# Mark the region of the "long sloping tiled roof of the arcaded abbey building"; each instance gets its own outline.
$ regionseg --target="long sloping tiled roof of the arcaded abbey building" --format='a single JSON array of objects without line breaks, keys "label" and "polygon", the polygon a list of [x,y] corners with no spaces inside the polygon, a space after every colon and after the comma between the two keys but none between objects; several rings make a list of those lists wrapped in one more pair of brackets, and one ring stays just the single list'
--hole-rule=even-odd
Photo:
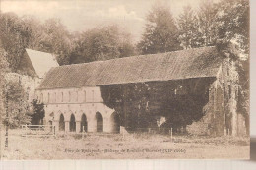
[{"label": "long sloping tiled roof of the arcaded abbey building", "polygon": [[216,47],[202,47],[67,65],[52,68],[38,89],[216,77],[221,62]]}]

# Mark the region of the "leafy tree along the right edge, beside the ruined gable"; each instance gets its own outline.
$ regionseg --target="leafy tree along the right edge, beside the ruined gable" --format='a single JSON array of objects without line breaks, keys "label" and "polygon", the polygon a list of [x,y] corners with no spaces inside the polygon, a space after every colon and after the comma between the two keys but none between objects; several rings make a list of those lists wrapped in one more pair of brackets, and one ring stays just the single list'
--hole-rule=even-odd
[{"label": "leafy tree along the right edge, beside the ruined gable", "polygon": [[217,28],[219,38],[236,45],[239,73],[239,93],[237,109],[245,118],[246,132],[249,134],[249,0],[222,0],[218,9]]}]

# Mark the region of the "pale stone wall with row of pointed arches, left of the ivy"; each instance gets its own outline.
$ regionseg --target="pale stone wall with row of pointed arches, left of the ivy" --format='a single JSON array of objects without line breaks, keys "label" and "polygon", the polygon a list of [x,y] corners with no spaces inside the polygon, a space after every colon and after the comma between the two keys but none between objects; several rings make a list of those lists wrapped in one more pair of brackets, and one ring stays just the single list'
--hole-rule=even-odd
[{"label": "pale stone wall with row of pointed arches, left of the ivy", "polygon": [[118,123],[114,122],[113,116],[118,115],[103,104],[100,87],[36,90],[36,96],[45,104],[45,123],[55,125],[56,131],[60,130],[61,115],[64,117],[65,132],[71,131],[72,117],[75,118],[74,125],[77,133],[81,131],[83,117],[87,120],[87,132],[97,132],[98,115],[102,117],[103,132],[116,130],[114,126]]}]

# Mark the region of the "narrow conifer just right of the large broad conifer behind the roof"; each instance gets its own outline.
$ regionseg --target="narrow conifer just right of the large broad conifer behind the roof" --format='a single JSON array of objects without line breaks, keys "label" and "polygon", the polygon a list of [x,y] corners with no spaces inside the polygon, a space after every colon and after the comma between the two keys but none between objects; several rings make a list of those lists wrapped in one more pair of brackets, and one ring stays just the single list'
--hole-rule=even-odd
[{"label": "narrow conifer just right of the large broad conifer behind the roof", "polygon": [[191,6],[185,6],[183,12],[177,19],[179,40],[184,49],[195,48],[200,46],[198,41],[199,29],[198,18]]}]

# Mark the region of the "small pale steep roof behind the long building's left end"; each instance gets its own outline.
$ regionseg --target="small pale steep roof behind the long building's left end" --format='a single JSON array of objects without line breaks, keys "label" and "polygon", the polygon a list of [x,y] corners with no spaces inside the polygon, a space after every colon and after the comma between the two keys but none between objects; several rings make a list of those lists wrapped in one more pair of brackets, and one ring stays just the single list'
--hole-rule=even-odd
[{"label": "small pale steep roof behind the long building's left end", "polygon": [[32,62],[33,69],[39,78],[43,78],[43,76],[52,67],[59,66],[55,57],[50,53],[35,51],[32,49],[26,49],[26,52],[28,53],[28,56]]}]

